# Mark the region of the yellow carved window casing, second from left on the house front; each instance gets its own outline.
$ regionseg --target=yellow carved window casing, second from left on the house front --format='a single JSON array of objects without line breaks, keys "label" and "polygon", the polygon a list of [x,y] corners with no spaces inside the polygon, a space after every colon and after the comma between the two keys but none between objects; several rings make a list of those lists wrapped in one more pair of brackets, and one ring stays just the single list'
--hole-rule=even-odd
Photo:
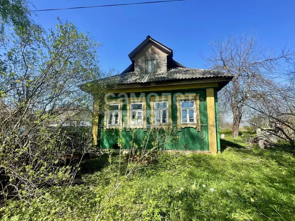
[{"label": "yellow carved window casing, second from left on the house front", "polygon": [[147,130],[146,106],[146,97],[127,98],[127,131],[130,128]]}]

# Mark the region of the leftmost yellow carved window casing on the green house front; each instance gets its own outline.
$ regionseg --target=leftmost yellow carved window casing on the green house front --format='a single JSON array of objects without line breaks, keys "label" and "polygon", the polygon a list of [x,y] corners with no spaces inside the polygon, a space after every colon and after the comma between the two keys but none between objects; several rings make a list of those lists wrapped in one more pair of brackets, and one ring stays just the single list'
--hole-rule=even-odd
[{"label": "leftmost yellow carved window casing on the green house front", "polygon": [[104,129],[119,129],[122,131],[122,99],[108,100],[104,112]]}]

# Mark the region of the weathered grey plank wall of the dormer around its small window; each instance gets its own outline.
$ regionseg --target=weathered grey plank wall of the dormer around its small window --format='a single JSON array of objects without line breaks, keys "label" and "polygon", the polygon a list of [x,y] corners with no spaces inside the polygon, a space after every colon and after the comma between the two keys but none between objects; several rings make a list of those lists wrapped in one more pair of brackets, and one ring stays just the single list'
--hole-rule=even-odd
[{"label": "weathered grey plank wall of the dormer around its small window", "polygon": [[[167,71],[167,54],[152,43],[147,44],[135,57],[134,57],[134,72],[145,73],[145,61],[156,59],[156,72]],[[144,77],[144,76],[143,76]]]}]

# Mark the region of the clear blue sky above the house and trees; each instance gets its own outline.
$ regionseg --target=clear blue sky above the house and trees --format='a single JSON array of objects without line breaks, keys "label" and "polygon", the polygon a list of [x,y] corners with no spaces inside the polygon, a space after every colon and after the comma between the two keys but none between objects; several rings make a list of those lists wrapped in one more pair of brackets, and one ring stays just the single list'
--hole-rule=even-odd
[{"label": "clear blue sky above the house and trees", "polygon": [[[31,0],[36,9],[143,2],[143,0]],[[33,9],[33,7],[31,7]],[[55,27],[56,18],[73,22],[81,32],[90,32],[98,48],[99,65],[123,71],[128,54],[150,35],[173,49],[174,60],[186,67],[206,68],[198,55],[209,55],[208,42],[216,35],[257,32],[258,41],[279,51],[295,45],[294,1],[198,1],[113,6],[37,12],[43,28]]]}]

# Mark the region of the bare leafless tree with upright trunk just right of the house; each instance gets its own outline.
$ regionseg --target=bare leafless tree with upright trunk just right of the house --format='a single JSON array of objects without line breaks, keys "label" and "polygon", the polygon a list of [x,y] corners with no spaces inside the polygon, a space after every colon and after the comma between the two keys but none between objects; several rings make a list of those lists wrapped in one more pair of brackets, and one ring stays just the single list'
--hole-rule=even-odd
[{"label": "bare leafless tree with upright trunk just right of the house", "polygon": [[234,75],[220,93],[220,99],[230,104],[233,136],[237,137],[245,105],[257,93],[269,88],[272,77],[284,71],[284,61],[294,59],[294,52],[283,48],[278,55],[267,53],[257,43],[257,36],[246,33],[230,34],[228,39],[217,37],[210,42],[211,57],[202,57],[215,70]]}]

